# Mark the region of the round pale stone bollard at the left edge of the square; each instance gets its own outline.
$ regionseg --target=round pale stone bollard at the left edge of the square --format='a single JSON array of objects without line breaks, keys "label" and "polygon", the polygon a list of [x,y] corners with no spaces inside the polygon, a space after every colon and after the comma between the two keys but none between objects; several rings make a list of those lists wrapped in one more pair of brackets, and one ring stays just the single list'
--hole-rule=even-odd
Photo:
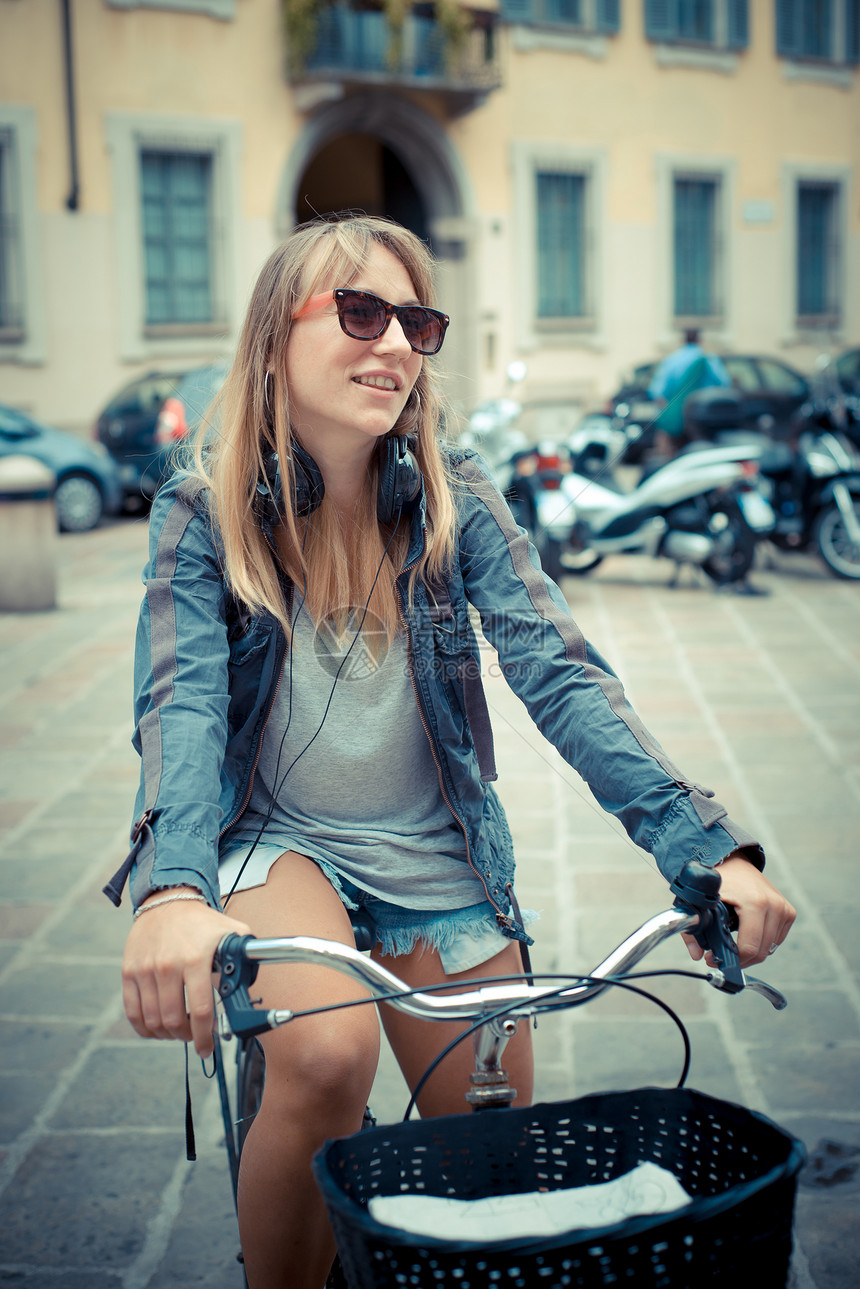
[{"label": "round pale stone bollard at the left edge of the square", "polygon": [[0,612],[57,605],[55,482],[35,456],[0,458]]}]

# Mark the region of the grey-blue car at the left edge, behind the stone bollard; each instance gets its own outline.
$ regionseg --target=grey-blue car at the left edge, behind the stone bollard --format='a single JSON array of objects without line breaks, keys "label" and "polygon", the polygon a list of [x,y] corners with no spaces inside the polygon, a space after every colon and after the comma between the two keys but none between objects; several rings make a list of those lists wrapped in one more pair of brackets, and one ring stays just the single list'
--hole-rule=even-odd
[{"label": "grey-blue car at the left edge, behind the stone bollard", "polygon": [[86,532],[122,504],[122,485],[111,458],[75,434],[43,425],[0,405],[0,456],[35,456],[57,476],[54,504],[62,532]]}]

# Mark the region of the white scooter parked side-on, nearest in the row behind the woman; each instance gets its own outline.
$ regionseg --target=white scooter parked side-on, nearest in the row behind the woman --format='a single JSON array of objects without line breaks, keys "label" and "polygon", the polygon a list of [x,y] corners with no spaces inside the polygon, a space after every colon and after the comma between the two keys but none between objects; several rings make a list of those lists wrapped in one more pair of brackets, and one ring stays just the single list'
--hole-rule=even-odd
[{"label": "white scooter parked side-on, nearest in the row behind the woman", "polygon": [[678,568],[698,566],[717,585],[743,581],[774,513],[757,489],[756,451],[738,455],[709,449],[678,456],[629,492],[612,486],[609,472],[562,476],[558,491],[543,491],[538,501],[544,570],[557,581],[565,572],[589,572],[609,554],[641,552]]}]

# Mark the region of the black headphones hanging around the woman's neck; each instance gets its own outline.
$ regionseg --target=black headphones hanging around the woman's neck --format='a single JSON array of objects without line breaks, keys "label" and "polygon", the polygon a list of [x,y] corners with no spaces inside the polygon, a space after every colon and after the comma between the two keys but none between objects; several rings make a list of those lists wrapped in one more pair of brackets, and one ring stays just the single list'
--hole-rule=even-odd
[{"label": "black headphones hanging around the woman's neck", "polygon": [[[290,440],[295,492],[293,513],[298,518],[312,514],[325,495],[325,483],[320,467],[311,454]],[[284,517],[284,486],[277,452],[267,452],[263,458],[264,476],[257,481],[254,509],[264,525],[280,523]],[[376,518],[380,523],[396,523],[405,512],[411,510],[422,489],[422,472],[413,456],[409,438],[393,434],[383,438],[379,445],[379,480],[376,485]]]}]

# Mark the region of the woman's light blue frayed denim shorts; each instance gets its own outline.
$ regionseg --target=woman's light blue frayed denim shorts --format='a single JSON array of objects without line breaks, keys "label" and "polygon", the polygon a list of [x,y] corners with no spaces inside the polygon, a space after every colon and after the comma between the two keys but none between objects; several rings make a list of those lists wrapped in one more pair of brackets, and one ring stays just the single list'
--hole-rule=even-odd
[{"label": "woman's light blue frayed denim shorts", "polygon": [[[232,891],[233,882],[236,882],[249,851],[250,844],[240,842],[231,846],[220,856],[218,875],[222,898]],[[268,870],[281,855],[284,855],[282,846],[273,842],[259,842],[254,847],[254,853],[242,871],[236,889],[248,891],[251,887],[263,886]],[[325,873],[344,906],[351,911],[361,909],[370,919],[376,942],[382,953],[388,956],[409,954],[416,945],[424,945],[437,951],[445,974],[454,976],[456,972],[468,971],[471,967],[478,967],[487,962],[512,942],[499,929],[495,909],[486,900],[467,909],[404,909],[362,891],[348,878],[342,877],[325,860],[313,858],[313,862]],[[536,916],[531,911],[523,910],[523,914],[529,922]]]}]

